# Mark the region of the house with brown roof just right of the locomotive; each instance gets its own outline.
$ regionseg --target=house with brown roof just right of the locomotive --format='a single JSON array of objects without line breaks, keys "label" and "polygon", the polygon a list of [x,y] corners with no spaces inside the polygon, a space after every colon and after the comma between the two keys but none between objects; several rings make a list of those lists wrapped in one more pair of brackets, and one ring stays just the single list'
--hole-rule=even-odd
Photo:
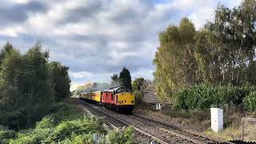
[{"label": "house with brown roof just right of the locomotive", "polygon": [[167,104],[166,102],[162,102],[158,95],[156,94],[154,85],[149,85],[143,90],[143,98],[142,102],[150,106],[154,106],[157,110],[161,110],[163,104]]}]

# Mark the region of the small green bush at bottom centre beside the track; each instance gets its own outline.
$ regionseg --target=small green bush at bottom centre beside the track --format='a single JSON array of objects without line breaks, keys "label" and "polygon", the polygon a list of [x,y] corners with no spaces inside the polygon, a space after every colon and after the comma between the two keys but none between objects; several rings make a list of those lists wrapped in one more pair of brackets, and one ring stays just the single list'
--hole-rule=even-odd
[{"label": "small green bush at bottom centre beside the track", "polygon": [[134,129],[129,126],[126,129],[115,129],[110,131],[109,134],[106,135],[106,141],[108,143],[116,143],[116,144],[129,144],[134,143]]}]

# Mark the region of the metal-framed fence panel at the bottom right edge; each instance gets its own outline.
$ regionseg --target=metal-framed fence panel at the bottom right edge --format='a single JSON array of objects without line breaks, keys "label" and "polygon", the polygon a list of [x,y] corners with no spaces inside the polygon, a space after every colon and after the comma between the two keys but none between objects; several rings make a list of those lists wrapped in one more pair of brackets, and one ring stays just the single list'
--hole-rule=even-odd
[{"label": "metal-framed fence panel at the bottom right edge", "polygon": [[242,118],[242,140],[256,142],[256,118]]}]

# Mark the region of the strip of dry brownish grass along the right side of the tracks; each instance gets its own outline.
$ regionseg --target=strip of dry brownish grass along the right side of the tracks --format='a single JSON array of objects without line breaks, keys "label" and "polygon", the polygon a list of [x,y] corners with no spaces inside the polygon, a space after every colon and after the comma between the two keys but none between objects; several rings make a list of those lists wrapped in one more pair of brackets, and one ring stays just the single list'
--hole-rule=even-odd
[{"label": "strip of dry brownish grass along the right side of the tracks", "polygon": [[[256,118],[256,112],[244,113],[242,108],[237,106],[226,106],[224,108],[224,130],[214,132],[210,130],[210,110],[204,112],[187,112],[183,110],[158,110],[148,106],[138,106],[134,113],[146,115],[162,122],[170,123],[186,129],[203,132],[206,135],[224,140],[242,139],[241,119],[243,117]],[[253,136],[254,137],[254,136]]]}]

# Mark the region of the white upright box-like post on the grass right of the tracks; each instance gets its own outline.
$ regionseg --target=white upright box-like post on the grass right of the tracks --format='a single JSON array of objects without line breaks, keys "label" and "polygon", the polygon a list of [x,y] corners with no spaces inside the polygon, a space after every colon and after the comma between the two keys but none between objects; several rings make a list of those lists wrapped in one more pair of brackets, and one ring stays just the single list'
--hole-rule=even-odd
[{"label": "white upright box-like post on the grass right of the tracks", "polygon": [[220,108],[210,108],[211,129],[219,131],[223,129],[223,110]]}]

